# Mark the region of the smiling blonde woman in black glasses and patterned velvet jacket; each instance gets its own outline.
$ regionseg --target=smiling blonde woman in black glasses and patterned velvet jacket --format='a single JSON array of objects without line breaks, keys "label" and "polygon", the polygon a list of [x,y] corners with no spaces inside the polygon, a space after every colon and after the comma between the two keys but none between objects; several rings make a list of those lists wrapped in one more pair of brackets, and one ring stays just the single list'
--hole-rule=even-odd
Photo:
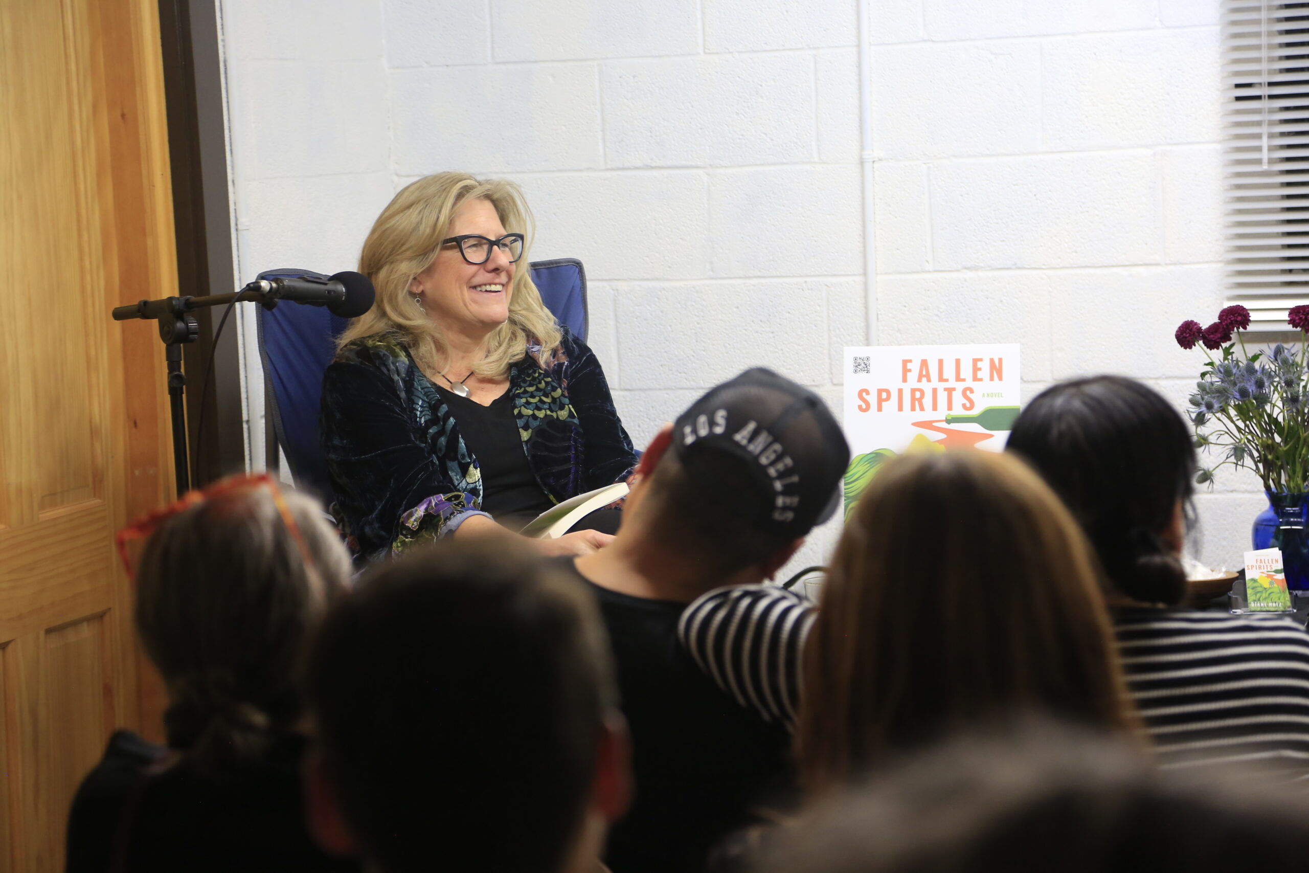
[{"label": "smiling blonde woman in black glasses and patterned velvet jacket", "polygon": [[[340,338],[321,421],[336,516],[364,559],[517,530],[631,475],[600,363],[531,284],[530,236],[517,185],[465,173],[408,185],[368,234],[359,268],[377,302]],[[589,526],[617,527],[614,513]],[[533,542],[583,554],[607,541],[575,526]]]}]

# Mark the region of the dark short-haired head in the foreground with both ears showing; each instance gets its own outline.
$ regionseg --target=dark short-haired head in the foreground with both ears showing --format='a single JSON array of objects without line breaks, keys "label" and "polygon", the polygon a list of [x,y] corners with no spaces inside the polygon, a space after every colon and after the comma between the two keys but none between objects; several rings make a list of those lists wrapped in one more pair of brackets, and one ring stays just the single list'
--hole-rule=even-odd
[{"label": "dark short-haired head in the foreground with both ears showing", "polygon": [[490,539],[377,567],[306,685],[325,847],[378,873],[598,869],[627,743],[596,605],[558,567]]}]

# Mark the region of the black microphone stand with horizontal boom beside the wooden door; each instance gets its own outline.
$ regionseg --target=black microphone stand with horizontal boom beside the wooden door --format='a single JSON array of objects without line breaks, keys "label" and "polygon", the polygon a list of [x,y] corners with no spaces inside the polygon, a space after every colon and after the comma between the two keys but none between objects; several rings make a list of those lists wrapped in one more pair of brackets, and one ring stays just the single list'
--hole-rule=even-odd
[{"label": "black microphone stand with horizontal boom beside the wooden door", "polygon": [[164,300],[141,300],[132,306],[115,306],[114,321],[131,318],[158,322],[160,339],[164,342],[164,359],[168,368],[169,411],[173,419],[173,475],[177,480],[177,493],[181,497],[191,490],[191,465],[186,441],[186,373],[182,372],[182,344],[194,343],[200,335],[200,325],[191,310],[202,306],[221,306],[233,301],[254,301],[264,309],[278,305],[275,293],[266,281],[251,281],[241,291],[206,297],[165,297]]}]

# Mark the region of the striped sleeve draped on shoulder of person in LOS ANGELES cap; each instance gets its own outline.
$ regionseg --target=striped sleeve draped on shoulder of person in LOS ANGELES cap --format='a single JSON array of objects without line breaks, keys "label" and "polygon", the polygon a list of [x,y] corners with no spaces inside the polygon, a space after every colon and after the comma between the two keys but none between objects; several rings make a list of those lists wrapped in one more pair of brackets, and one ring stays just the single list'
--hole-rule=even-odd
[{"label": "striped sleeve draped on shoulder of person in LOS ANGELES cap", "polygon": [[695,662],[737,703],[795,728],[801,657],[817,611],[775,585],[719,588],[686,607],[678,633]]}]

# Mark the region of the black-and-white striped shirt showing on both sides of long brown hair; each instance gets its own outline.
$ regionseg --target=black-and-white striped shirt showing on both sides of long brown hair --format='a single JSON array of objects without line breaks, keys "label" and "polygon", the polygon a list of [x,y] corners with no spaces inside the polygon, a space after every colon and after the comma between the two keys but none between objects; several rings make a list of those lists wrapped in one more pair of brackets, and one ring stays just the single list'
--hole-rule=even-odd
[{"label": "black-and-white striped shirt showing on both sides of long brown hair", "polygon": [[[817,609],[771,585],[720,588],[682,614],[683,645],[721,688],[795,726]],[[1309,633],[1287,618],[1113,614],[1127,685],[1160,763],[1262,760],[1309,776]]]}]

